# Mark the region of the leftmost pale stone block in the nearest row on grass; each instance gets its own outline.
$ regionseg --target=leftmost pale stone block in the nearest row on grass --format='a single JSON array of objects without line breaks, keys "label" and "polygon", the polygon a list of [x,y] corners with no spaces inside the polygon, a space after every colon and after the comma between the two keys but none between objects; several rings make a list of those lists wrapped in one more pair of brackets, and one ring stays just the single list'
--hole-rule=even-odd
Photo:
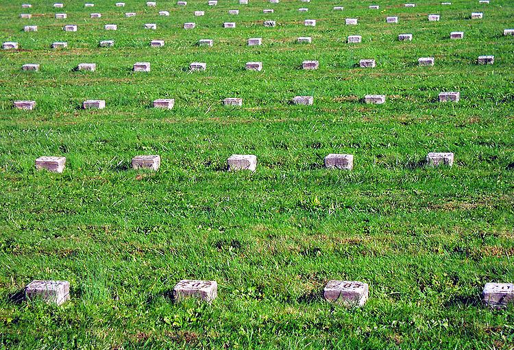
[{"label": "leftmost pale stone block in the nearest row on grass", "polygon": [[68,281],[32,281],[25,288],[25,298],[59,306],[70,299],[70,284]]}]

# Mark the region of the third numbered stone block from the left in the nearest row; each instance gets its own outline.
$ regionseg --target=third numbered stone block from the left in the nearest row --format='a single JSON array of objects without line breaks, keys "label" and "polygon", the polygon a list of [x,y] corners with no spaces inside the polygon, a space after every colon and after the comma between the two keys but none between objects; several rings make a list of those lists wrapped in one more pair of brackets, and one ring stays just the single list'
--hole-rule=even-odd
[{"label": "third numbered stone block from the left in the nearest row", "polygon": [[339,301],[351,308],[363,306],[368,294],[368,284],[358,281],[329,281],[323,289],[327,301]]}]

